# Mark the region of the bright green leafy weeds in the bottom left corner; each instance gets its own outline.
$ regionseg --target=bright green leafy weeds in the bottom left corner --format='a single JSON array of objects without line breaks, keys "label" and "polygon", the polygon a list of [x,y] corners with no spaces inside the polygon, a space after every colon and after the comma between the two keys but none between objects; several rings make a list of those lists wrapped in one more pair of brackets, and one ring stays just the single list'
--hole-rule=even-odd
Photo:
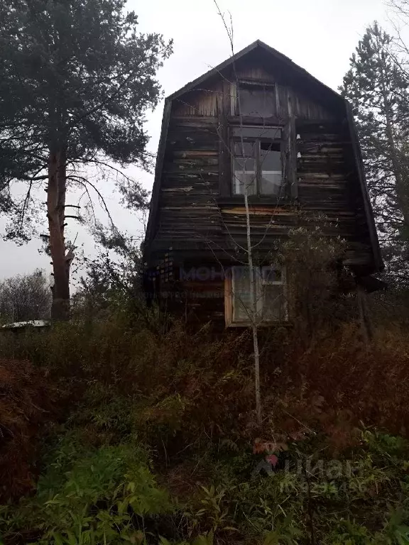
[{"label": "bright green leafy weeds in the bottom left corner", "polygon": [[145,527],[171,510],[137,446],[87,448],[68,434],[45,464],[35,497],[3,513],[8,532],[29,524],[39,545],[142,543]]}]

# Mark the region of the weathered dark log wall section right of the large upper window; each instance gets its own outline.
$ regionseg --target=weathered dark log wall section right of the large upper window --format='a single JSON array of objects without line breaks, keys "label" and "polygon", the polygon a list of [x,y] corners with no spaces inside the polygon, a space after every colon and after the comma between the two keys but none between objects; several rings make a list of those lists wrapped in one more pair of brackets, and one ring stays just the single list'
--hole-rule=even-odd
[{"label": "weathered dark log wall section right of the large upper window", "polygon": [[358,172],[346,121],[296,123],[298,199],[306,214],[325,214],[332,233],[348,241],[346,263],[373,260]]}]

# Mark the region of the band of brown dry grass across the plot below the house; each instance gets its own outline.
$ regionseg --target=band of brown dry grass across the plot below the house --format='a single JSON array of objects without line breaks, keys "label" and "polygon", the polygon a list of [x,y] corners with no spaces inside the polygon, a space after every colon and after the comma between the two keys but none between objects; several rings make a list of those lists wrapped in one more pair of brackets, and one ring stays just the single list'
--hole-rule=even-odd
[{"label": "band of brown dry grass across the plot below the house", "polygon": [[360,422],[409,436],[404,331],[377,331],[370,349],[355,324],[323,331],[308,348],[288,329],[261,337],[263,430],[247,331],[215,339],[208,326],[187,334],[175,324],[153,334],[114,316],[3,341],[0,355],[14,359],[0,363],[1,482],[13,493],[30,487],[38,426],[54,418],[45,375],[88,439],[136,430],[172,466],[219,441],[288,441],[312,431],[342,450]]}]

